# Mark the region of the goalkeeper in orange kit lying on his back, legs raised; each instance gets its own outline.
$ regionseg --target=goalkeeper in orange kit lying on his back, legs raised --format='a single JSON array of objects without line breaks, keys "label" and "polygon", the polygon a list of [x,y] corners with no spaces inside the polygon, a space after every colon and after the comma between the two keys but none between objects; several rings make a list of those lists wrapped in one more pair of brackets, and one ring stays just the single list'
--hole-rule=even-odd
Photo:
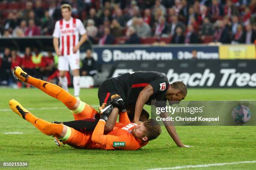
[{"label": "goalkeeper in orange kit lying on his back, legs raised", "polygon": [[[74,119],[83,120],[86,124],[90,122],[97,122],[95,129],[91,132],[86,130],[76,130],[67,125],[50,123],[34,116],[31,112],[26,110],[16,100],[10,100],[10,108],[20,115],[23,119],[31,122],[38,130],[46,135],[54,135],[57,141],[68,144],[74,148],[83,149],[104,149],[104,150],[137,150],[148,143],[149,140],[157,138],[161,133],[160,125],[152,119],[146,120],[141,125],[131,123],[128,119],[127,113],[119,113],[119,122],[115,123],[112,130],[104,133],[105,126],[115,122],[118,115],[110,113],[113,109],[120,107],[122,99],[118,95],[113,95],[111,102],[103,104],[98,113],[94,108],[81,100],[77,100],[74,96],[63,90],[61,87],[51,84],[46,81],[36,79],[29,76],[20,67],[14,70],[15,76],[23,82],[27,82],[46,94],[55,97],[68,107],[74,115]],[[84,127],[87,127],[85,125]]]}]

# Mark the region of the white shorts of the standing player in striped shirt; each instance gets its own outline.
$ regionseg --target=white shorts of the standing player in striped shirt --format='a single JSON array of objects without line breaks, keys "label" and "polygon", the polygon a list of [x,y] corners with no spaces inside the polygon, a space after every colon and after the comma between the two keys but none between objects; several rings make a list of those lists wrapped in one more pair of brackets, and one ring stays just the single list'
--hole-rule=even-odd
[{"label": "white shorts of the standing player in striped shirt", "polygon": [[80,53],[77,52],[72,55],[59,56],[58,70],[69,71],[69,66],[71,70],[76,70],[80,68]]}]

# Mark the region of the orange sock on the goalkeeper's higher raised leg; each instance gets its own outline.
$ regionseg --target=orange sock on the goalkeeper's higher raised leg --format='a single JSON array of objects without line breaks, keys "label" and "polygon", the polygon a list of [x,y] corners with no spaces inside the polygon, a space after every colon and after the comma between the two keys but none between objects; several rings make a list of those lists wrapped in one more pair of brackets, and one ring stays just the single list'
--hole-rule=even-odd
[{"label": "orange sock on the goalkeeper's higher raised leg", "polygon": [[77,102],[76,97],[72,96],[67,91],[62,89],[61,87],[54,85],[50,82],[46,82],[46,81],[39,80],[37,78],[29,76],[27,83],[42,90],[43,92],[50,95],[51,97],[54,97],[54,98],[60,100],[69,109],[72,109],[72,107],[74,107],[74,105]]}]

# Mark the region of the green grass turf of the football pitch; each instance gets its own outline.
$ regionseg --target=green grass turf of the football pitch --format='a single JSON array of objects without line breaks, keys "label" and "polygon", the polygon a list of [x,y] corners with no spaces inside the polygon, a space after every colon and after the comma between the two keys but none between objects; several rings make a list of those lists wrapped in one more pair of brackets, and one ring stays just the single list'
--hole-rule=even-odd
[{"label": "green grass turf of the football pitch", "polygon": [[[72,89],[70,89],[73,93]],[[79,150],[58,148],[51,136],[8,109],[15,99],[44,120],[73,120],[58,100],[38,89],[0,89],[0,161],[28,161],[28,169],[148,169],[256,160],[256,132],[253,126],[176,127],[182,142],[194,148],[178,148],[166,129],[154,141],[136,151]],[[81,100],[98,105],[97,89],[82,89]],[[189,89],[186,100],[256,100],[255,89]],[[61,107],[51,110],[51,107]],[[149,111],[150,107],[146,107]],[[4,134],[23,132],[23,134]],[[197,169],[256,169],[256,163]],[[17,170],[17,168],[14,168]],[[193,168],[196,169],[196,168]]]}]

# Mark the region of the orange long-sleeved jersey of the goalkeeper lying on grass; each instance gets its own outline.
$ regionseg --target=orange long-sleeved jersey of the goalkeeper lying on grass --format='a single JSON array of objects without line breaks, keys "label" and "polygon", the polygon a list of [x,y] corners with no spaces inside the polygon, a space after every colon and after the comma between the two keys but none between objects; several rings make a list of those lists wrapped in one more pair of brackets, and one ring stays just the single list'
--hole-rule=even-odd
[{"label": "orange long-sleeved jersey of the goalkeeper lying on grass", "polygon": [[104,135],[105,121],[100,120],[92,133],[92,141],[86,148],[100,148],[104,150],[137,150],[145,146],[148,142],[143,143],[133,136],[132,129],[135,128],[136,125],[136,123],[130,122],[126,112],[120,113],[119,122],[115,124],[113,130]]}]

